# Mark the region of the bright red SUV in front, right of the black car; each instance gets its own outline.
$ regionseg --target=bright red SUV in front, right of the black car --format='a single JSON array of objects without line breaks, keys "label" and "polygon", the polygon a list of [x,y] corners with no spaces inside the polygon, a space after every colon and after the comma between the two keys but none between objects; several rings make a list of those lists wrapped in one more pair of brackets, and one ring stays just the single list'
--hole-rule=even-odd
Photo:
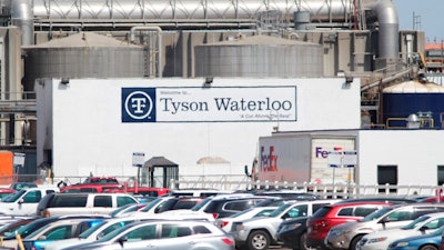
[{"label": "bright red SUV in front, right of the black car", "polygon": [[344,202],[324,206],[306,221],[306,246],[309,248],[325,249],[324,239],[332,227],[349,221],[357,221],[376,210],[390,206],[392,204],[383,201]]}]

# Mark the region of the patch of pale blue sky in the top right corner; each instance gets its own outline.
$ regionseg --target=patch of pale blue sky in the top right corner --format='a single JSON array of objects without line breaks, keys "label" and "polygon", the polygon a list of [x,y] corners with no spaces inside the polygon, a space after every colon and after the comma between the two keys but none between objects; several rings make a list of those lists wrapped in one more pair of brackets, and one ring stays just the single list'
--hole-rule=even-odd
[{"label": "patch of pale blue sky in the top right corner", "polygon": [[444,0],[392,0],[400,18],[400,30],[416,29],[425,32],[428,42],[444,40]]}]

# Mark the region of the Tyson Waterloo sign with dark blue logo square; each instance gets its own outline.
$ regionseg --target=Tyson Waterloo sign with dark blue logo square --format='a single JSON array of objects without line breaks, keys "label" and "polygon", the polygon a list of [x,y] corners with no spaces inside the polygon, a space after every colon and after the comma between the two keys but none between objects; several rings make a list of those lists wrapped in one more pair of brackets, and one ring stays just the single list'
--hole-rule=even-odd
[{"label": "Tyson Waterloo sign with dark blue logo square", "polygon": [[296,121],[296,87],[122,88],[122,122]]}]

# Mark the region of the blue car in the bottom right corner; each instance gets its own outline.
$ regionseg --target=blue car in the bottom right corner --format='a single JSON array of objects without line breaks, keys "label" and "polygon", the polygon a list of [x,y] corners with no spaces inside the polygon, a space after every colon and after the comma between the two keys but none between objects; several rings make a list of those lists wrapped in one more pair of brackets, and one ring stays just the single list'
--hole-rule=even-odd
[{"label": "blue car in the bottom right corner", "polygon": [[443,231],[444,227],[441,227],[427,234],[395,240],[387,250],[438,250]]}]

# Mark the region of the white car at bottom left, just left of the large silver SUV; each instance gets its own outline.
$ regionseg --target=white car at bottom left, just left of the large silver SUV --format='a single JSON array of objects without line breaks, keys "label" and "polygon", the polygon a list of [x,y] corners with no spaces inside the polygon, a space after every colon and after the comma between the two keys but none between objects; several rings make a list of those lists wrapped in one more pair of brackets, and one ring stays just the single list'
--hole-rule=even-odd
[{"label": "white car at bottom left, just left of the large silver SUV", "polygon": [[134,218],[112,218],[101,221],[100,223],[89,228],[82,232],[78,238],[71,238],[65,240],[60,240],[54,243],[49,243],[44,246],[44,250],[60,250],[67,247],[93,242],[107,236],[108,233],[123,228],[127,224],[139,222],[140,220],[134,220]]}]

